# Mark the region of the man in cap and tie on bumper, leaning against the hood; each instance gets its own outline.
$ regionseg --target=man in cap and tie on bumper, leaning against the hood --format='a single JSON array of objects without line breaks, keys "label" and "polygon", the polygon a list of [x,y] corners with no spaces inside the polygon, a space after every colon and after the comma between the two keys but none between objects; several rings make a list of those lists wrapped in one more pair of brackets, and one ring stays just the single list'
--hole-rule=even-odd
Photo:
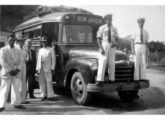
[{"label": "man in cap and tie on bumper, leaning against the hood", "polygon": [[97,41],[101,52],[97,72],[97,86],[103,85],[107,63],[109,80],[115,80],[115,46],[118,41],[118,32],[112,25],[111,14],[105,15],[104,20],[106,24],[100,26],[97,32]]}]

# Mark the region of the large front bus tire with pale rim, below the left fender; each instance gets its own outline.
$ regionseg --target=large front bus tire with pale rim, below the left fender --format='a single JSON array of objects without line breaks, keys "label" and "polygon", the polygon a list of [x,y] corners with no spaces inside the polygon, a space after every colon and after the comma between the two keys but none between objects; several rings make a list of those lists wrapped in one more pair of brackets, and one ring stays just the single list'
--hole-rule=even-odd
[{"label": "large front bus tire with pale rim, below the left fender", "polygon": [[70,90],[73,100],[79,105],[87,105],[92,94],[87,91],[87,83],[80,72],[75,72],[71,79]]}]

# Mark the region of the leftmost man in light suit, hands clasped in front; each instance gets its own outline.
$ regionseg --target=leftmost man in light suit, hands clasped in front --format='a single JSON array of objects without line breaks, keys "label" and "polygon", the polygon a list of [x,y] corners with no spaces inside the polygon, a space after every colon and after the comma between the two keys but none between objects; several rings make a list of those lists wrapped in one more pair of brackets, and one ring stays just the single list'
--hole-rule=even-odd
[{"label": "leftmost man in light suit, hands clasped in front", "polygon": [[0,85],[0,112],[5,109],[6,100],[11,87],[11,104],[14,108],[25,109],[20,105],[20,70],[21,55],[17,48],[14,47],[14,35],[8,36],[8,45],[1,49],[1,85]]}]

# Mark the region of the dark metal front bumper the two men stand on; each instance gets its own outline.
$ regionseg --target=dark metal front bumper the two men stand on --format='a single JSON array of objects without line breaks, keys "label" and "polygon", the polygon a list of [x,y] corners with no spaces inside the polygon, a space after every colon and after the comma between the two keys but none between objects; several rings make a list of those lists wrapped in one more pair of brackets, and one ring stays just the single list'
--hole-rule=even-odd
[{"label": "dark metal front bumper the two men stand on", "polygon": [[104,84],[103,87],[98,87],[95,84],[88,84],[88,92],[115,92],[115,91],[130,91],[148,88],[150,86],[149,80],[138,80],[132,82],[111,82]]}]

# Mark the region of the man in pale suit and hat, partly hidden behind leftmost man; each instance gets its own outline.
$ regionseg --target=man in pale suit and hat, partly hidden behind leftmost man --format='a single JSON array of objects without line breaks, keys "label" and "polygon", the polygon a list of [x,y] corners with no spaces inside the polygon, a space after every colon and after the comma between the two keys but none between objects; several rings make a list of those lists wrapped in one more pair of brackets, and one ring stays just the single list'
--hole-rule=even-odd
[{"label": "man in pale suit and hat, partly hidden behind leftmost man", "polygon": [[24,40],[22,38],[17,38],[17,44],[16,46],[20,50],[21,54],[21,63],[22,63],[22,68],[20,71],[20,94],[21,94],[21,103],[22,104],[27,104],[29,103],[26,101],[26,92],[27,92],[27,85],[26,85],[26,64],[25,62],[29,59],[28,53],[24,49]]}]

